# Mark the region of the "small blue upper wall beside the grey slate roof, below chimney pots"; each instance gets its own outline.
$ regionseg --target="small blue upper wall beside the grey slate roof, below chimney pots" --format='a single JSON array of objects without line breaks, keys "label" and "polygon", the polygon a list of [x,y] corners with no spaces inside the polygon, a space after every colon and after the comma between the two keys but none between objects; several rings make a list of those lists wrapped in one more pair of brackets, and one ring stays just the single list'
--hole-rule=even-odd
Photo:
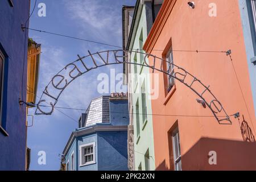
[{"label": "small blue upper wall beside the grey slate roof, below chimney pots", "polygon": [[109,111],[110,123],[112,125],[129,125],[129,109],[127,100],[110,100]]}]

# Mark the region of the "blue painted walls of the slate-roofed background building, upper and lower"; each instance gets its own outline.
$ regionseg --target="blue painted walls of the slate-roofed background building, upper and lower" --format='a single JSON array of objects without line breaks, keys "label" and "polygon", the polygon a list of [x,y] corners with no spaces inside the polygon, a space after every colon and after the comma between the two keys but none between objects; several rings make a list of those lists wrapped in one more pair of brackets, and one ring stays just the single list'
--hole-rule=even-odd
[{"label": "blue painted walls of the slate-roofed background building, upper and lower", "polygon": [[[65,155],[65,163],[69,161],[71,170],[71,155],[74,151],[76,171],[127,171],[127,131],[111,131],[114,126],[129,125],[129,110],[127,100],[110,100],[110,123],[97,123],[94,126],[108,126],[110,131],[97,131],[75,137],[71,147]],[[76,129],[75,133],[91,130],[94,126]],[[115,127],[116,129],[116,127]],[[80,167],[79,148],[83,144],[95,143],[96,163]]]}]

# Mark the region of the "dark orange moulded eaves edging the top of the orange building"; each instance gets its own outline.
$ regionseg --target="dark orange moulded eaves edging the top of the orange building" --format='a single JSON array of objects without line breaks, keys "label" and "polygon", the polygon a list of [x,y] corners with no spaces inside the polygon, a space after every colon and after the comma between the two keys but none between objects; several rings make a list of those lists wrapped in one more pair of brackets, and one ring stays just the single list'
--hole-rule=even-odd
[{"label": "dark orange moulded eaves edging the top of the orange building", "polygon": [[146,42],[144,43],[143,49],[147,53],[151,53],[152,49],[155,46],[156,40],[158,39],[160,33],[163,30],[164,24],[169,18],[172,10],[174,9],[174,5],[177,0],[168,0],[164,1],[162,7],[158,15],[156,16],[155,22],[150,30],[150,33],[147,36]]}]

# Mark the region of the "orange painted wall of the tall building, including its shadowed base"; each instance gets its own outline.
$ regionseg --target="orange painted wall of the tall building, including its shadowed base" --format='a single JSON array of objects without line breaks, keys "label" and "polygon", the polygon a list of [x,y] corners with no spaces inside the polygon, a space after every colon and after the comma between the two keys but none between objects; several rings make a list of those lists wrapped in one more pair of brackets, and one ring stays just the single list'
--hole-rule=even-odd
[{"label": "orange painted wall of the tall building, including its shadowed base", "polygon": [[[195,0],[196,7],[188,7],[186,0],[165,0],[144,49],[162,57],[172,39],[174,50],[227,51],[232,50],[246,109],[232,62],[225,53],[174,52],[174,63],[195,75],[220,100],[228,114],[238,111],[244,115],[255,136],[255,115],[247,70],[245,44],[238,1],[215,0],[217,16],[210,17],[210,0]],[[172,5],[174,5],[172,7]],[[170,12],[170,14],[168,13]],[[152,60],[150,60],[152,64]],[[156,64],[160,64],[159,62]],[[152,100],[153,114],[213,115],[209,108],[196,102],[195,93],[176,80],[176,90],[164,105],[164,76],[160,74],[159,98]],[[151,80],[152,84],[152,80]],[[256,169],[256,147],[243,142],[240,124],[231,117],[232,125],[219,125],[214,117],[153,116],[155,164],[157,170],[174,169],[168,131],[177,122],[180,133],[183,170]],[[208,152],[217,152],[217,165],[209,165]]]}]

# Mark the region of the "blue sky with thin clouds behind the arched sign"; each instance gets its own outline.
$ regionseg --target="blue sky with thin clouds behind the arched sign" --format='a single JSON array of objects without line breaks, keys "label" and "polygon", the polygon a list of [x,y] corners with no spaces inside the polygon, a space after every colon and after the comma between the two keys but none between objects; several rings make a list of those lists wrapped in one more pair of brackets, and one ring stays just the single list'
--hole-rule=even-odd
[{"label": "blue sky with thin clouds behind the arched sign", "polygon": [[[31,1],[31,10],[35,0]],[[38,16],[38,4],[46,4],[46,17]],[[134,6],[135,0],[38,0],[30,19],[30,28],[77,36],[97,42],[122,47],[122,5]],[[65,65],[75,61],[77,54],[115,49],[82,42],[80,40],[48,35],[42,32],[29,32],[30,38],[42,44],[39,73],[38,96]],[[86,109],[90,101],[99,96],[97,75],[115,68],[122,73],[122,65],[102,67],[77,78],[61,94],[56,106]],[[110,90],[113,91],[113,90]],[[38,101],[38,100],[37,100]],[[81,111],[60,109],[76,121]],[[29,113],[34,114],[30,109]],[[31,148],[31,170],[59,170],[60,157],[72,131],[77,128],[73,119],[55,110],[52,115],[35,115],[34,125],[28,127],[27,145]],[[38,152],[46,152],[46,165],[38,164]]]}]

